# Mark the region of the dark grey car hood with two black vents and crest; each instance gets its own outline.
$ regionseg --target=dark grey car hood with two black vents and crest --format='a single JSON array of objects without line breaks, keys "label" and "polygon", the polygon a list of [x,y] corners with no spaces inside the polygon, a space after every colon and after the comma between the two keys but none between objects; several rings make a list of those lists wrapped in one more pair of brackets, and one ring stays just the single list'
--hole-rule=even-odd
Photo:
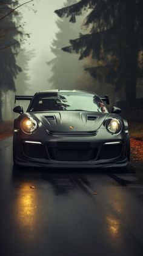
[{"label": "dark grey car hood with two black vents and crest", "polygon": [[56,111],[30,112],[51,133],[93,132],[99,129],[108,113]]}]

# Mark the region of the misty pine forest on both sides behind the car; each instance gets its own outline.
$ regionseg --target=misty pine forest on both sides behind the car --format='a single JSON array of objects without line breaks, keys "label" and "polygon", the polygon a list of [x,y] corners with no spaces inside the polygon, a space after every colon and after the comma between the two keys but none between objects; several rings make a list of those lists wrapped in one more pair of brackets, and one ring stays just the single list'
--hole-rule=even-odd
[{"label": "misty pine forest on both sides behind the car", "polygon": [[[29,2],[0,1],[0,122],[13,119],[8,109],[16,93],[38,88],[36,81],[30,83],[28,63],[34,54],[24,47],[30,35],[19,12]],[[44,69],[51,74],[44,74],[45,88],[108,94],[111,104],[123,109],[142,106],[143,2],[67,0],[63,6],[54,14],[58,30],[50,45],[53,58],[45,61]],[[44,33],[48,35],[48,27]]]}]

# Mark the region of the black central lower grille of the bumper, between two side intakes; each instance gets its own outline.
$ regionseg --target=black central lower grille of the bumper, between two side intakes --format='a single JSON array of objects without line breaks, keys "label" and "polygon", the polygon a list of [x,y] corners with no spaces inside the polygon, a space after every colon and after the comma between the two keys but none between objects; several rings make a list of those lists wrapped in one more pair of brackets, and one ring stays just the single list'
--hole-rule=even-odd
[{"label": "black central lower grille of the bumper, between two side intakes", "polygon": [[56,161],[87,162],[94,160],[98,153],[97,148],[48,148],[50,159]]}]

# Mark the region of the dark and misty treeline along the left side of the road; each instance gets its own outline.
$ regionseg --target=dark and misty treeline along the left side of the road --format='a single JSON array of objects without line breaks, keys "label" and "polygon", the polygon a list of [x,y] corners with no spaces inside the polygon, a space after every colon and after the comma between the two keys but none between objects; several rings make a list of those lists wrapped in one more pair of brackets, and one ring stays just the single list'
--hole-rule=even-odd
[{"label": "dark and misty treeline along the left side of the road", "polygon": [[[30,2],[30,1],[29,1]],[[0,123],[2,122],[2,106],[12,108],[12,97],[7,92],[16,91],[15,80],[22,72],[16,58],[19,53],[24,57],[24,49],[20,49],[24,40],[24,32],[21,25],[22,16],[18,8],[24,5],[19,1],[0,1]],[[25,61],[25,58],[24,58]],[[27,81],[22,84],[24,91]],[[19,83],[19,86],[20,83]],[[7,105],[7,102],[10,103]],[[11,109],[4,109],[4,113]],[[6,114],[5,114],[6,115]]]}]

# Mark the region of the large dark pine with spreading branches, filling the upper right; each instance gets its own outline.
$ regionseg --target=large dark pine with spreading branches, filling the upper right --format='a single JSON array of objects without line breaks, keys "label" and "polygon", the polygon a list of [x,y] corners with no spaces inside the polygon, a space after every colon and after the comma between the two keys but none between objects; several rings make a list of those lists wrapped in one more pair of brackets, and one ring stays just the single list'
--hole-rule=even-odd
[{"label": "large dark pine with spreading branches, filling the upper right", "polygon": [[136,80],[142,76],[139,54],[143,50],[142,0],[81,0],[55,12],[59,17],[76,21],[84,9],[91,9],[84,20],[89,33],[70,40],[65,52],[80,54],[80,60],[91,56],[97,65],[86,70],[116,89],[125,87],[128,105],[136,100]]}]

